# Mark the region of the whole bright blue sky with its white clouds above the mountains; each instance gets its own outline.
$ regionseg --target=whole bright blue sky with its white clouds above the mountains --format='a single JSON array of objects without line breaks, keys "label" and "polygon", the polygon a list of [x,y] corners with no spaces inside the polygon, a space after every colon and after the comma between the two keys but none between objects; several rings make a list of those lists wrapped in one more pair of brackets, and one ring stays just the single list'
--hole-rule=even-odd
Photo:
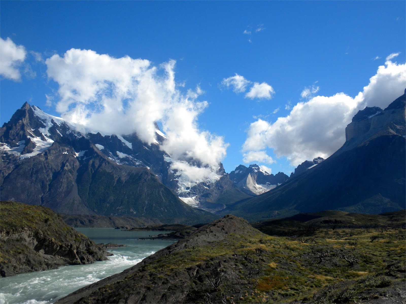
[{"label": "whole bright blue sky with its white clouds above the mountains", "polygon": [[[405,11],[404,1],[1,1],[1,124],[25,101],[106,132],[114,119],[136,122],[158,106],[145,125],[157,120],[179,159],[289,175],[337,150],[356,111],[403,93]],[[117,60],[125,56],[147,60],[139,82],[125,82],[135,73],[127,67],[141,64]],[[112,69],[106,75],[102,62]],[[85,92],[77,73],[80,83],[107,88]],[[138,83],[156,88],[159,102],[150,105],[148,92],[141,98]],[[106,98],[124,111],[99,126]],[[126,125],[148,139],[135,122]]]}]

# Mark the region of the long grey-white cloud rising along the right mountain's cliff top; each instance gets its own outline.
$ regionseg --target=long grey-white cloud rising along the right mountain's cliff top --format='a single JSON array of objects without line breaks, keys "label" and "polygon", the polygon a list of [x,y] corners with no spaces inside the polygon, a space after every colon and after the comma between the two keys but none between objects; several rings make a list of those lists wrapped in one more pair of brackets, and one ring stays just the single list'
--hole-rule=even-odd
[{"label": "long grey-white cloud rising along the right mountain's cliff top", "polygon": [[297,103],[288,116],[273,123],[258,119],[248,128],[242,146],[244,161],[246,155],[266,149],[277,157],[285,156],[293,166],[317,156],[327,158],[345,142],[345,128],[358,110],[387,107],[403,94],[405,85],[405,64],[387,61],[355,97],[342,92],[315,96]]}]

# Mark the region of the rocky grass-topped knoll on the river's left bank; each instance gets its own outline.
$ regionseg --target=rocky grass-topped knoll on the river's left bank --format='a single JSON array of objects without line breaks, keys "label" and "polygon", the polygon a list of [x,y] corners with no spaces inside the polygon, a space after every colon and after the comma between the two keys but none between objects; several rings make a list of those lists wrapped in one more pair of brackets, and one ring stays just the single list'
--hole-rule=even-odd
[{"label": "rocky grass-topped knoll on the river's left bank", "polygon": [[89,264],[108,253],[49,208],[1,202],[1,275]]}]

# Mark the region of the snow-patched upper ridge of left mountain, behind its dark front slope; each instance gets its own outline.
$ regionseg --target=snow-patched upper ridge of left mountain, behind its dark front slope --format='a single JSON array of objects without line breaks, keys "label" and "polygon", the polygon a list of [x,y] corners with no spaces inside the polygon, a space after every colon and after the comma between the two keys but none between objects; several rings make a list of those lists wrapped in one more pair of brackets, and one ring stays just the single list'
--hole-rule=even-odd
[{"label": "snow-patched upper ridge of left mountain, behind its dark front slope", "polygon": [[[221,163],[216,169],[207,168],[211,170],[205,180],[189,180],[181,172],[171,169],[171,156],[161,149],[166,136],[158,125],[155,124],[155,128],[156,139],[145,143],[136,133],[122,136],[103,134],[51,116],[38,107],[25,103],[1,129],[2,158],[9,160],[2,162],[1,183],[13,170],[13,163],[44,154],[55,143],[69,146],[78,161],[85,161],[94,154],[80,144],[88,141],[92,146],[91,150],[117,165],[148,169],[162,184],[192,207],[219,210],[225,208],[225,204],[217,203],[217,200],[224,201],[226,193],[233,194],[233,200],[228,201],[229,203],[247,197],[229,180]],[[63,153],[69,154],[68,150]],[[192,165],[199,166],[199,163],[194,161]]]}]

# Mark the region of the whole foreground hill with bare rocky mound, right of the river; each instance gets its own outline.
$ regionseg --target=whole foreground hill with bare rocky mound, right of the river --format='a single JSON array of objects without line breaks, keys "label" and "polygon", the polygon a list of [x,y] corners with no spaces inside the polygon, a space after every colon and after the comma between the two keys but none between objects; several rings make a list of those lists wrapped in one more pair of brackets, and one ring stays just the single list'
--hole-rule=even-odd
[{"label": "whole foreground hill with bare rocky mound, right of the river", "polygon": [[59,303],[404,303],[405,260],[402,227],[278,236],[225,216]]}]

